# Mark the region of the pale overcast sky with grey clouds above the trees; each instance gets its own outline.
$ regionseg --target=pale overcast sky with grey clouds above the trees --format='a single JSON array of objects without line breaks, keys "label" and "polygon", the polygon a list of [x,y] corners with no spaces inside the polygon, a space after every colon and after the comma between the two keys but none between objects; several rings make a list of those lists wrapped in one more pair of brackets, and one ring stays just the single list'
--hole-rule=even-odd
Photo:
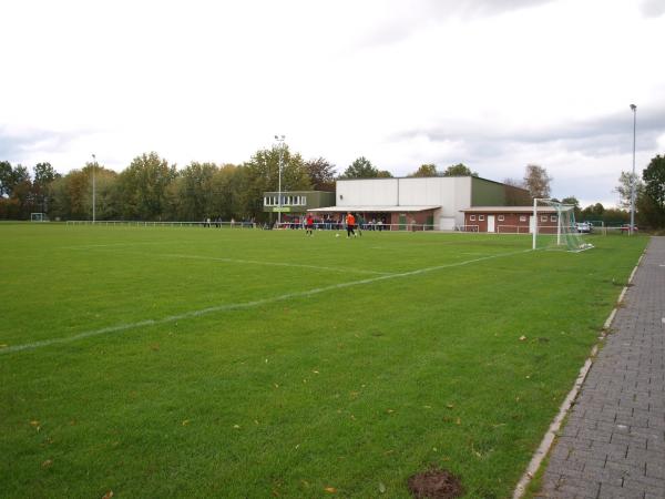
[{"label": "pale overcast sky with grey clouds above the trees", "polygon": [[[617,203],[665,153],[665,0],[3,0],[0,161],[463,163]],[[630,104],[636,104],[634,114]],[[634,118],[636,121],[634,122]]]}]

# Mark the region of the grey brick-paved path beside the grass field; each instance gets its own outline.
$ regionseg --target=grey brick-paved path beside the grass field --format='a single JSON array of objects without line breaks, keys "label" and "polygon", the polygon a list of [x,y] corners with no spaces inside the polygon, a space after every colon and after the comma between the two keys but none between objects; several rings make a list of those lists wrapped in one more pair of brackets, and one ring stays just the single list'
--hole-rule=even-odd
[{"label": "grey brick-paved path beside the grass field", "polygon": [[665,237],[652,237],[536,497],[665,498]]}]

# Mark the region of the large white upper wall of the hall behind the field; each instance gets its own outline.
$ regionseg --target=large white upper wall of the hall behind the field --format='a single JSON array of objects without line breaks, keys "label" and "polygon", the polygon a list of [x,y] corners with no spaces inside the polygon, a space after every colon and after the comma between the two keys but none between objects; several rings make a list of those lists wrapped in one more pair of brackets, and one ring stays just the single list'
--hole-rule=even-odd
[{"label": "large white upper wall of the hall behind the field", "polygon": [[471,206],[471,177],[367,179],[337,181],[338,206],[437,205],[438,228],[452,230],[464,223],[460,210]]}]

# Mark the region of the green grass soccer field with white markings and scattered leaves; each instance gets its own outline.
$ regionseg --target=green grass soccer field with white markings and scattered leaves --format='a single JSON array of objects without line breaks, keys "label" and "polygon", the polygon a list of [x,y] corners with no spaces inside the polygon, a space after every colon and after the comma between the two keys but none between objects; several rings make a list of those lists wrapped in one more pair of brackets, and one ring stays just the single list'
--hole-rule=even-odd
[{"label": "green grass soccer field with white markings and scattered leaves", "polygon": [[591,241],[0,225],[0,497],[510,497],[647,238]]}]

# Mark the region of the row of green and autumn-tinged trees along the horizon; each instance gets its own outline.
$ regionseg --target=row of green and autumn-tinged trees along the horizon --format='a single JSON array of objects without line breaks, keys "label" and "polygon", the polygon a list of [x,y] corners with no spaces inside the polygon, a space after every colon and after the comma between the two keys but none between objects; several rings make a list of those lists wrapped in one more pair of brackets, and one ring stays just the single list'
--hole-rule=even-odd
[{"label": "row of green and autumn-tinged trees along the horizon", "polygon": [[[184,169],[170,164],[155,152],[134,157],[117,173],[96,162],[61,175],[50,163],[38,163],[32,175],[23,165],[0,161],[0,218],[28,220],[31,213],[47,213],[51,220],[89,220],[92,214],[92,183],[95,185],[96,220],[264,221],[263,193],[276,192],[282,154],[283,191],[335,191],[338,179],[391,177],[368,159],[355,160],[340,175],[324,157],[305,161],[288,145],[257,151],[239,165],[192,162]],[[432,163],[420,165],[410,177],[479,176],[458,163],[439,171]],[[507,204],[528,205],[534,197],[550,197],[552,176],[540,166],[526,165],[521,180],[505,179]],[[665,157],[655,156],[642,175],[622,172],[615,192],[618,210],[602,204],[582,208],[575,196],[561,200],[575,206],[577,220],[625,223],[631,182],[635,182],[637,223],[665,227]]]}]

